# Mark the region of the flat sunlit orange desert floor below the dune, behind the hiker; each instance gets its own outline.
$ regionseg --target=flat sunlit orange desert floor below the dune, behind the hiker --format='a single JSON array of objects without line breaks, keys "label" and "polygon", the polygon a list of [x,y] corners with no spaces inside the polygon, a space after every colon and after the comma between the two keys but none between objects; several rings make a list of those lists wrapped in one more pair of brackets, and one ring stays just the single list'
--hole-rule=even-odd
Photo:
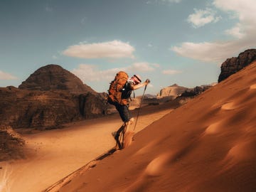
[{"label": "flat sunlit orange desert floor below the dune, behind the hiker", "polygon": [[[135,132],[169,112],[168,105],[142,107]],[[137,110],[132,113],[137,117]],[[119,115],[112,114],[65,124],[63,129],[21,134],[26,158],[0,162],[0,191],[43,191],[115,146],[111,133],[121,125]]]}]

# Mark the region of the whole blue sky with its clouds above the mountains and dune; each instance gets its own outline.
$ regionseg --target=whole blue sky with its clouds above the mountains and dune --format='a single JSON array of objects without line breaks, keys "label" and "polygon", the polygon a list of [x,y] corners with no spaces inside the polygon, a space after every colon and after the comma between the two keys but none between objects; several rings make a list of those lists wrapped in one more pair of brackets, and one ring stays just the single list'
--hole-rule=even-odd
[{"label": "whole blue sky with its clouds above the mountains and dune", "polygon": [[0,87],[48,64],[97,92],[119,70],[149,78],[151,94],[217,82],[226,58],[256,48],[255,10],[255,0],[0,0]]}]

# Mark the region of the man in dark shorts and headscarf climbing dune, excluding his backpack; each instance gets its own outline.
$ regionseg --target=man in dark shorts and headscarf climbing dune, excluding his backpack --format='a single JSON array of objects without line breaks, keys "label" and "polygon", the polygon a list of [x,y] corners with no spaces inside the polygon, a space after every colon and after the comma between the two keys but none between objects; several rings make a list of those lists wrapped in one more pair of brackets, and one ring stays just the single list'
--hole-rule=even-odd
[{"label": "man in dark shorts and headscarf climbing dune, excluding his backpack", "polygon": [[[128,78],[128,75],[127,75]],[[117,132],[113,132],[112,135],[117,142],[119,149],[123,149],[123,142],[119,141],[120,134],[122,134],[122,140],[124,141],[124,133],[127,130],[129,124],[132,124],[134,118],[132,117],[131,112],[129,111],[129,101],[133,90],[137,90],[141,87],[144,87],[149,84],[150,80],[147,79],[145,82],[142,82],[142,78],[139,75],[133,75],[132,78],[129,78],[124,86],[122,87],[121,93],[121,102],[113,102],[112,104],[116,107],[119,115],[124,122],[122,127],[120,127]],[[141,83],[142,82],[142,83]]]}]

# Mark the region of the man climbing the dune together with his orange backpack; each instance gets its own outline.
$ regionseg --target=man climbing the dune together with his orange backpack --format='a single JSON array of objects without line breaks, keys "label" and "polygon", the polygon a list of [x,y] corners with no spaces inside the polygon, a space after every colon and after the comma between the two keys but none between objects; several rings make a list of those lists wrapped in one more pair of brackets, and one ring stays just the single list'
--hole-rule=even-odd
[{"label": "man climbing the dune together with his orange backpack", "polygon": [[[123,149],[124,146],[128,146],[131,142],[131,139],[126,139],[128,135],[125,136],[125,132],[128,131],[129,125],[134,122],[134,118],[129,111],[129,102],[132,91],[144,87],[150,82],[150,80],[147,79],[145,82],[141,83],[141,79],[142,78],[139,75],[133,75],[132,78],[128,79],[127,73],[120,71],[110,83],[108,102],[116,107],[124,122],[117,132],[112,133],[119,149]],[[128,140],[130,141],[128,142]],[[126,144],[124,141],[127,141]]]}]

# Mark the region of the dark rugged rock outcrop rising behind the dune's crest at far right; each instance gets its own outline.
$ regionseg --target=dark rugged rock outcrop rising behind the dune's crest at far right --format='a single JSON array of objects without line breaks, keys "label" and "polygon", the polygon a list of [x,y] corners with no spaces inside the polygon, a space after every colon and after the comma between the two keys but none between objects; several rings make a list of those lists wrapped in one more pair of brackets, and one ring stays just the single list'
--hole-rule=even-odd
[{"label": "dark rugged rock outcrop rising behind the dune's crest at far right", "polygon": [[228,58],[221,65],[221,72],[218,82],[225,80],[230,75],[237,73],[238,70],[245,68],[247,65],[256,60],[256,49],[248,49],[240,53],[237,58]]}]

